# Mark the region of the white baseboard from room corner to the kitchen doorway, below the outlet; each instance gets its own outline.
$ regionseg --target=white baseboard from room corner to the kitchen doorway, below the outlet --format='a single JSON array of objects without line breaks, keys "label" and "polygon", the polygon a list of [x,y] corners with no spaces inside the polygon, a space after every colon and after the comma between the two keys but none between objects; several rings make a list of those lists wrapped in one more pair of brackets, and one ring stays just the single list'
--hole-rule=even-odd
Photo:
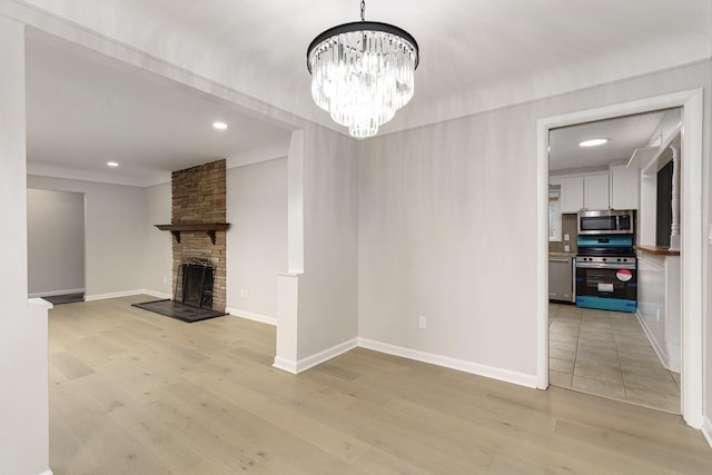
[{"label": "white baseboard from room corner to the kitchen doorway, below the outlet", "polygon": [[402,346],[390,345],[388,343],[376,342],[367,338],[358,338],[358,346],[373,349],[375,352],[386,353],[388,355],[400,356],[403,358],[414,359],[416,362],[429,363],[432,365],[443,366],[459,372],[471,373],[477,376],[484,376],[492,379],[498,379],[506,383],[516,384],[536,388],[536,375],[511,372],[508,369],[495,368],[493,366],[479,365],[464,359],[451,358],[448,356],[435,355],[417,349],[405,348]]}]

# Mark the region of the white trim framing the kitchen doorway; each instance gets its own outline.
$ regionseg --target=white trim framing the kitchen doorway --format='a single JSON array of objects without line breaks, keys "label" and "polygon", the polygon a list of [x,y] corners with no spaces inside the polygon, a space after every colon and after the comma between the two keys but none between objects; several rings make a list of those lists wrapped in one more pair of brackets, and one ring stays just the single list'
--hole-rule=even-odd
[{"label": "white trim framing the kitchen doorway", "polygon": [[537,120],[537,387],[548,387],[548,131],[553,128],[611,119],[620,116],[682,108],[682,174],[681,174],[681,320],[682,320],[682,416],[694,428],[703,425],[703,328],[702,328],[702,89],[691,89],[655,96],[631,102],[581,110]]}]

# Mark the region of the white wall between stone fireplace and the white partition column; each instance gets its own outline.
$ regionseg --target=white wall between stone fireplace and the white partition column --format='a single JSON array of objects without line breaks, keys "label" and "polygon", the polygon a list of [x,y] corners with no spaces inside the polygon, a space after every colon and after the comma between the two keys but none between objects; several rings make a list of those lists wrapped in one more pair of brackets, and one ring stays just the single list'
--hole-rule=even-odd
[{"label": "white wall between stone fireplace and the white partition column", "polygon": [[228,311],[274,321],[287,270],[286,158],[227,170],[227,221]]}]

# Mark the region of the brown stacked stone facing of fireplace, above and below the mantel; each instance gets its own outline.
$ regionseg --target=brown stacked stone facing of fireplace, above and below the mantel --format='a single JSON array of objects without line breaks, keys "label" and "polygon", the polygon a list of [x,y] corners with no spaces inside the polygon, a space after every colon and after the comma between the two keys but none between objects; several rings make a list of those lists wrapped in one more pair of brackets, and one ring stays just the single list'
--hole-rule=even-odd
[{"label": "brown stacked stone facing of fireplace, above and below the mantel", "polygon": [[[225,160],[174,171],[171,176],[171,224],[225,222]],[[205,231],[180,231],[180,243],[172,239],[174,281],[181,264],[206,263],[215,267],[212,308],[225,311],[226,259],[225,231],[216,231],[215,245]],[[180,283],[178,283],[180,285]],[[179,294],[177,289],[177,295]]]}]

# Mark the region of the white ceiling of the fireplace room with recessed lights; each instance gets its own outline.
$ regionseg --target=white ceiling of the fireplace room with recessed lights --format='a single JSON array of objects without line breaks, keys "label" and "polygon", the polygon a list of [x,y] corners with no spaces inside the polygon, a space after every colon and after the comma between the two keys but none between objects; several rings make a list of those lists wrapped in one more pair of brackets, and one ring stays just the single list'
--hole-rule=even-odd
[{"label": "white ceiling of the fireplace room with recessed lights", "polygon": [[[30,172],[151,185],[170,171],[286,154],[290,131],[195,90],[31,36],[27,41]],[[228,125],[216,130],[214,121]],[[266,150],[265,150],[266,149]],[[110,169],[107,161],[119,168]]]}]

